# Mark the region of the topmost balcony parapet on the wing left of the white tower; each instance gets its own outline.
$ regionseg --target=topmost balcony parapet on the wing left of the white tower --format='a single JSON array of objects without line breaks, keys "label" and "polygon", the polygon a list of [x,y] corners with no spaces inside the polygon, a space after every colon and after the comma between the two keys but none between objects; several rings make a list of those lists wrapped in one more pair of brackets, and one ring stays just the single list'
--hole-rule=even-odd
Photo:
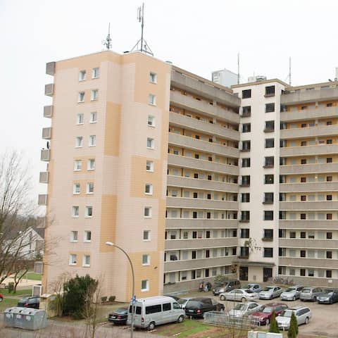
[{"label": "topmost balcony parapet on the wing left of the white tower", "polygon": [[203,95],[208,99],[215,100],[225,106],[237,108],[241,105],[241,100],[232,94],[231,89],[225,89],[219,84],[208,81],[202,77],[194,78],[183,75],[179,70],[171,72],[171,84],[175,87],[187,90],[197,95]]}]

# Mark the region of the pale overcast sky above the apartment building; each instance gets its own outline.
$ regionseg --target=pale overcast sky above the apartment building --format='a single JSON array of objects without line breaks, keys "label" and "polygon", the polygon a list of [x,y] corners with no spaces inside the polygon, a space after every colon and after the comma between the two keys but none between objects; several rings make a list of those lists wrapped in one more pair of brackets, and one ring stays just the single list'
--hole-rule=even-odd
[{"label": "pale overcast sky above the apartment building", "polygon": [[[210,79],[212,70],[255,73],[292,84],[325,82],[338,67],[337,0],[145,0],[146,41],[163,61]],[[39,187],[45,64],[102,50],[111,23],[113,51],[140,36],[142,0],[0,0],[0,154],[23,150]]]}]

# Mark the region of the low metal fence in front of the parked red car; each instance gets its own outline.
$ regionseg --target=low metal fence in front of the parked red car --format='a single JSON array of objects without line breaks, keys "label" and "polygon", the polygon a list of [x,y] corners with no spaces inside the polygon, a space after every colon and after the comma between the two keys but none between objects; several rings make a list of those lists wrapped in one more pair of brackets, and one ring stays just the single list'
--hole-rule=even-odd
[{"label": "low metal fence in front of the parked red car", "polygon": [[253,320],[248,317],[236,317],[234,315],[229,315],[224,311],[209,311],[204,313],[204,323],[245,330],[260,326],[259,320]]}]

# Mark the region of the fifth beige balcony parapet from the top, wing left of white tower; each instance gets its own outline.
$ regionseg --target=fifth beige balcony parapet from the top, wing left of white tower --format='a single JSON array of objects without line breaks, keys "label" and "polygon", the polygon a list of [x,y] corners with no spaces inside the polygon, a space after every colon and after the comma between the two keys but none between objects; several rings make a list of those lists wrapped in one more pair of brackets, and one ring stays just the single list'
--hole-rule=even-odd
[{"label": "fifth beige balcony parapet from the top, wing left of white tower", "polygon": [[182,168],[190,168],[196,170],[206,170],[211,173],[239,175],[239,167],[237,165],[226,165],[211,161],[203,161],[191,157],[177,156],[168,154],[168,165]]}]

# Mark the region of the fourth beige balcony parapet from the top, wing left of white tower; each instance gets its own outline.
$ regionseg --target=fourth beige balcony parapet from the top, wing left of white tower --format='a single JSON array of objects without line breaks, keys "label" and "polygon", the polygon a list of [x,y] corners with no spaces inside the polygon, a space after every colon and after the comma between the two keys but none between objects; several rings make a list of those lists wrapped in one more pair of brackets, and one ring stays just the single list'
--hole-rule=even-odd
[{"label": "fourth beige balcony parapet from the top, wing left of white tower", "polygon": [[173,132],[169,133],[169,144],[182,146],[184,148],[189,148],[196,151],[205,151],[209,154],[218,154],[221,156],[239,158],[239,150],[236,148],[204,142],[199,139],[193,139],[192,137],[173,134]]}]

